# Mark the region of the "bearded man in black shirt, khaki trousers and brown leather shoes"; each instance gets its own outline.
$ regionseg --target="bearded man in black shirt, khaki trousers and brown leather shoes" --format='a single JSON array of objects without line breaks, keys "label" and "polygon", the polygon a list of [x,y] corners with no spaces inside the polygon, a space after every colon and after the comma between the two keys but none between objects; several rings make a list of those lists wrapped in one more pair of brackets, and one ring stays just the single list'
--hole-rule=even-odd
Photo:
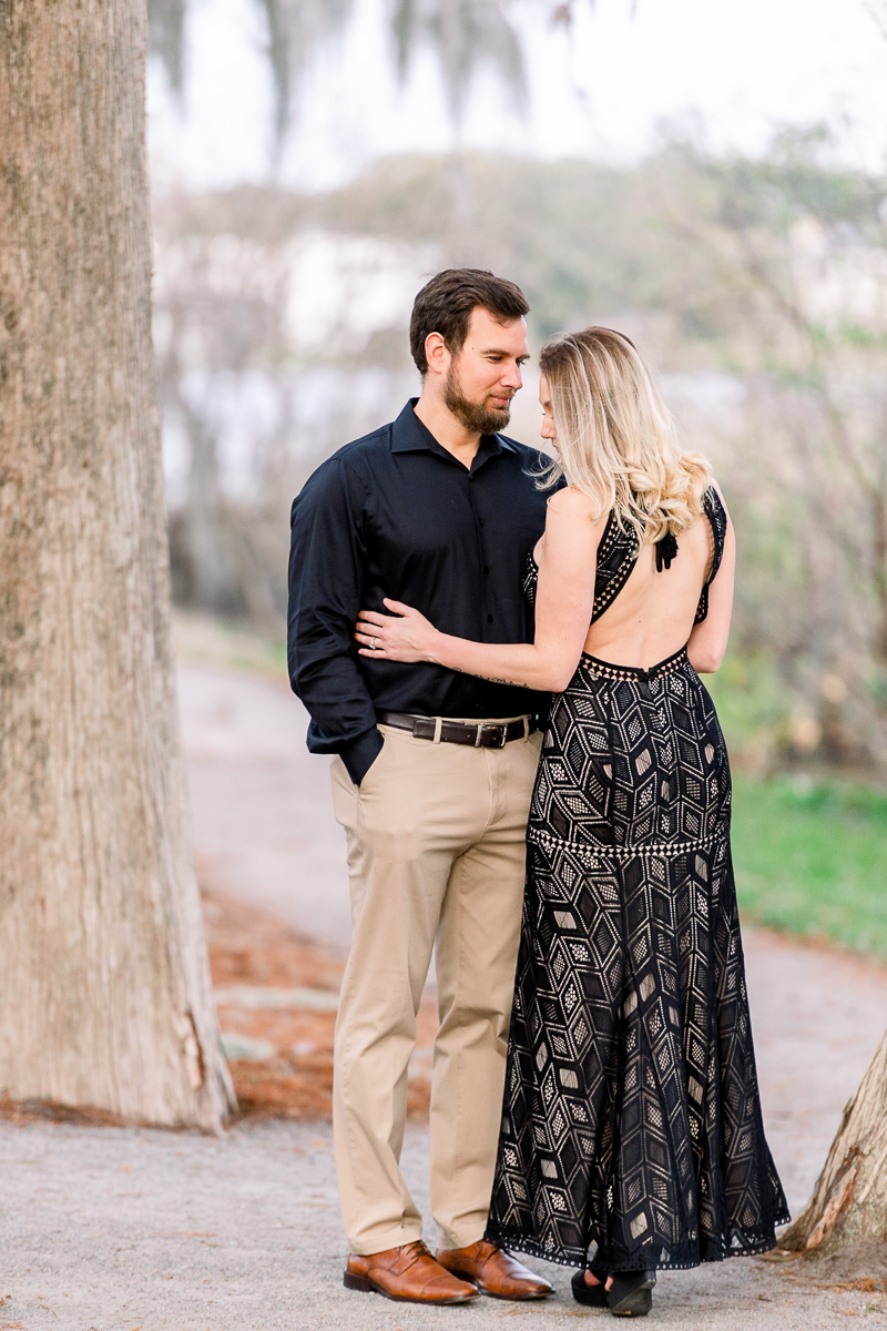
[{"label": "bearded man in black shirt, khaki trousers and brown leather shoes", "polygon": [[[335,1036],[332,1118],[344,1283],[418,1303],[543,1298],[547,1280],[483,1239],[501,1113],[525,828],[547,697],[438,666],[356,655],[383,598],[444,632],[521,642],[543,532],[540,455],[508,425],[528,305],[492,273],[439,273],[410,345],[422,394],[347,445],[293,504],[289,660],[309,748],[336,753],[354,942]],[[407,1065],[438,948],[431,1091],[436,1259],[399,1170]]]}]

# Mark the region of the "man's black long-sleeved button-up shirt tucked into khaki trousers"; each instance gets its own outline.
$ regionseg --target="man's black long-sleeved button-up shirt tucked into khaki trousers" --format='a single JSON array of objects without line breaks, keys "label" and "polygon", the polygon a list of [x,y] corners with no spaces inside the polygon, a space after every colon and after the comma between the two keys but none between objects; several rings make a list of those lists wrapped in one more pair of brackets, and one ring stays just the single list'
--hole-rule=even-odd
[{"label": "man's black long-sleeved button-up shirt tucked into khaki trousers", "polygon": [[547,695],[442,666],[358,656],[352,636],[358,611],[384,612],[390,596],[445,634],[527,642],[521,583],[545,526],[535,480],[545,461],[483,435],[469,470],[408,402],[307,480],[293,503],[289,666],[313,753],[342,753],[359,781],[380,747],[376,712],[505,717],[548,705]]}]

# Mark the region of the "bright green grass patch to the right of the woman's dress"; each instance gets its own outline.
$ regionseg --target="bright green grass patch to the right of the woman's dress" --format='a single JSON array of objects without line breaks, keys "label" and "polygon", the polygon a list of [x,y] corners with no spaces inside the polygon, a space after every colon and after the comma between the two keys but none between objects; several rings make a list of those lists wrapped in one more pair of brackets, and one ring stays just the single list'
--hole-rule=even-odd
[{"label": "bright green grass patch to the right of the woman's dress", "polygon": [[738,775],[733,856],[745,920],[887,957],[887,795]]}]

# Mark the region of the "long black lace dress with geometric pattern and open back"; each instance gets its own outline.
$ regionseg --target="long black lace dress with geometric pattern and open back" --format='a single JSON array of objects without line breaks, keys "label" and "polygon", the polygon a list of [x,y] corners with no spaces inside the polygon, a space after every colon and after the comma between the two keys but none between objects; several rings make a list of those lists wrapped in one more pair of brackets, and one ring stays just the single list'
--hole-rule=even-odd
[{"label": "long black lace dress with geometric pattern and open back", "polygon": [[[705,511],[710,582],[726,532],[714,490]],[[657,566],[676,556],[665,538]],[[636,559],[610,515],[594,619]],[[707,584],[697,623],[706,614]],[[686,650],[649,671],[582,655],[552,700],[529,815],[487,1238],[630,1271],[765,1252],[787,1219],[761,1119],[714,705]]]}]

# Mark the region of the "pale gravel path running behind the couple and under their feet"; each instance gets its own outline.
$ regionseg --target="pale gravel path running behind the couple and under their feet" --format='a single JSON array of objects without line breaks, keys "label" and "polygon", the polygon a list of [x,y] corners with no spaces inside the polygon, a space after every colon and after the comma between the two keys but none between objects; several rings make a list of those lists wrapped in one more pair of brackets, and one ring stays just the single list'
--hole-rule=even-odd
[{"label": "pale gravel path running behind the couple and under their feet", "polygon": [[[298,703],[273,681],[184,666],[181,704],[203,882],[239,901],[245,920],[258,905],[324,940],[322,964],[297,957],[309,966],[299,982],[332,984],[335,964],[323,958],[350,928],[343,847],[327,763],[305,752]],[[237,913],[226,918],[230,932]],[[225,984],[241,978],[239,965],[253,982],[286,982],[274,970],[285,962],[269,961],[255,938],[242,950],[238,961],[227,948]],[[746,952],[767,1133],[797,1209],[887,1026],[887,970],[763,932],[746,933]],[[427,1153],[427,1129],[412,1125],[404,1173],[426,1215]],[[217,1141],[0,1121],[0,1331],[438,1331],[456,1322],[489,1331],[511,1319],[541,1331],[597,1315],[572,1303],[561,1268],[548,1271],[559,1298],[536,1308],[395,1306],[343,1290],[343,1255],[326,1123],[247,1121]],[[834,1331],[847,1316],[887,1312],[880,1262],[827,1275],[758,1260],[666,1274],[648,1324]],[[860,1275],[878,1279],[846,1279]],[[827,1287],[842,1276],[844,1288]]]}]

